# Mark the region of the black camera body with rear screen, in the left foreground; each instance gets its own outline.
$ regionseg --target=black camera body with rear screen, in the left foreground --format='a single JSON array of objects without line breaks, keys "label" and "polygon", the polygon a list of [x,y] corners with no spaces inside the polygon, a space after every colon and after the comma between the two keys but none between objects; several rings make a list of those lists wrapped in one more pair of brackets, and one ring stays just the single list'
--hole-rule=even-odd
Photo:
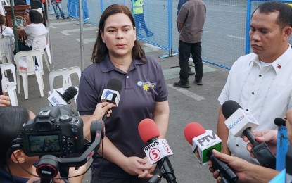
[{"label": "black camera body with rear screen, in the left foreground", "polygon": [[83,153],[82,119],[68,106],[45,106],[23,126],[23,151],[27,156],[66,156]]}]

